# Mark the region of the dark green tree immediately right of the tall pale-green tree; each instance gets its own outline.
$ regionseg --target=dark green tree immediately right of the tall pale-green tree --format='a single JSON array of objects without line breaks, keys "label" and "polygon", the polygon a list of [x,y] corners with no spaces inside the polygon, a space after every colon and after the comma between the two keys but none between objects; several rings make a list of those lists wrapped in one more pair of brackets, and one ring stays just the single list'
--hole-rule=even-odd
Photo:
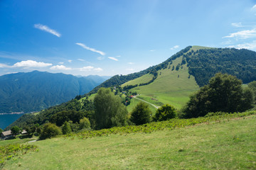
[{"label": "dark green tree immediately right of the tall pale-green tree", "polygon": [[149,123],[151,120],[151,111],[149,105],[144,102],[139,102],[135,108],[132,109],[131,119],[135,125],[143,125]]}]

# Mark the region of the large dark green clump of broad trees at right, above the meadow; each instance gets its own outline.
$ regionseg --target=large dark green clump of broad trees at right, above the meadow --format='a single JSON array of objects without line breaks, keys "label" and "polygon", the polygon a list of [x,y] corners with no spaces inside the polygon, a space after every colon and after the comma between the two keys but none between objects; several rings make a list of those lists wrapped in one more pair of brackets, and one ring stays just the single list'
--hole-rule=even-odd
[{"label": "large dark green clump of broad trees at right, above the meadow", "polygon": [[209,112],[234,113],[251,108],[250,91],[242,91],[242,81],[228,74],[215,74],[208,85],[190,97],[183,109],[185,118],[204,116]]}]

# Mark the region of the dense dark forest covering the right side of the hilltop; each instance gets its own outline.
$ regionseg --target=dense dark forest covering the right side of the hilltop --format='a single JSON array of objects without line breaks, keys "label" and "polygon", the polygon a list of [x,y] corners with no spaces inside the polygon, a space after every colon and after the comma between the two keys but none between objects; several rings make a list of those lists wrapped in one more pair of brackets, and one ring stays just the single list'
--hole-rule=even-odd
[{"label": "dense dark forest covering the right side of the hilltop", "polygon": [[235,48],[211,48],[184,55],[188,70],[199,86],[208,84],[214,74],[222,72],[241,79],[244,84],[256,80],[256,52]]}]

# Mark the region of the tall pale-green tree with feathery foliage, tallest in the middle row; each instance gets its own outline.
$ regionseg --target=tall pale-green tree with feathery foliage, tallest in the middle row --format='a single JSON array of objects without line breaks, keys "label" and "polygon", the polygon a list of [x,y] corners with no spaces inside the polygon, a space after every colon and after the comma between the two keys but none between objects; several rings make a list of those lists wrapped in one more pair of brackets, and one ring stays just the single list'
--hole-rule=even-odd
[{"label": "tall pale-green tree with feathery foliage, tallest in the middle row", "polygon": [[97,129],[127,125],[127,108],[110,89],[100,88],[94,99]]}]

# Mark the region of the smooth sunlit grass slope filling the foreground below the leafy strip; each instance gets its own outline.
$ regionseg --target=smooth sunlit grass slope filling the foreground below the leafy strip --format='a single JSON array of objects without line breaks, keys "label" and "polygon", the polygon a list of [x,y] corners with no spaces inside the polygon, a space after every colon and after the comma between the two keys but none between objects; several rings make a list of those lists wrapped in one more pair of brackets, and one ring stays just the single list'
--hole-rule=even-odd
[{"label": "smooth sunlit grass slope filling the foreground below the leafy strip", "polygon": [[256,169],[256,116],[151,133],[34,143],[4,169]]}]

